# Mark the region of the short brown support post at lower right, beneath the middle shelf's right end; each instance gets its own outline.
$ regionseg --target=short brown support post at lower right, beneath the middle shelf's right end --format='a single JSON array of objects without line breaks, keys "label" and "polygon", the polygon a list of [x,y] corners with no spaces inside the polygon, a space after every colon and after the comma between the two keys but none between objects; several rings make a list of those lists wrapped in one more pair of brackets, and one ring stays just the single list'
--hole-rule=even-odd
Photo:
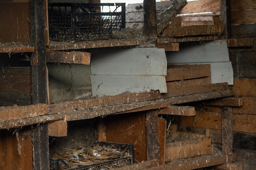
[{"label": "short brown support post at lower right, beneath the middle shelf's right end", "polygon": [[228,155],[233,147],[233,112],[231,107],[223,107],[222,118],[222,154]]}]

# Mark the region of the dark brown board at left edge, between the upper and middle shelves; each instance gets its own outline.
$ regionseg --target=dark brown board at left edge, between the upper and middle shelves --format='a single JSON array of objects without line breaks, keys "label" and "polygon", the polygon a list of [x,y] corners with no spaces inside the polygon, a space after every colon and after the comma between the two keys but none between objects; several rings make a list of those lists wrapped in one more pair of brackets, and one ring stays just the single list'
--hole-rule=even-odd
[{"label": "dark brown board at left edge, between the upper and middle shelves", "polygon": [[0,88],[2,106],[32,104],[31,67],[2,68]]}]

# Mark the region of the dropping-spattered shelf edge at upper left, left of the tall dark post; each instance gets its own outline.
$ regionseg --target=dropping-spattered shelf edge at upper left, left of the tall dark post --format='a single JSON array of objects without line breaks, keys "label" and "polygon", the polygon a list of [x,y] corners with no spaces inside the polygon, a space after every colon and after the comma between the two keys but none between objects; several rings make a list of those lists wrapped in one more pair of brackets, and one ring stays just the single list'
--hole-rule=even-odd
[{"label": "dropping-spattered shelf edge at upper left, left of the tall dark post", "polygon": [[0,53],[26,53],[34,52],[34,47],[29,45],[21,44],[1,44],[0,43]]}]

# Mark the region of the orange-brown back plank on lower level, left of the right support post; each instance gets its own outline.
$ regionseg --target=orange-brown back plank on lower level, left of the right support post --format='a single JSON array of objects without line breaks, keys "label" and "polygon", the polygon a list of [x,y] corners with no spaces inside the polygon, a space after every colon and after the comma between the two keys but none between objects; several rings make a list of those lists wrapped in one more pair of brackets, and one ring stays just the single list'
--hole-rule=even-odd
[{"label": "orange-brown back plank on lower level, left of the right support post", "polygon": [[222,129],[221,113],[197,111],[195,116],[181,117],[180,125],[220,130]]}]

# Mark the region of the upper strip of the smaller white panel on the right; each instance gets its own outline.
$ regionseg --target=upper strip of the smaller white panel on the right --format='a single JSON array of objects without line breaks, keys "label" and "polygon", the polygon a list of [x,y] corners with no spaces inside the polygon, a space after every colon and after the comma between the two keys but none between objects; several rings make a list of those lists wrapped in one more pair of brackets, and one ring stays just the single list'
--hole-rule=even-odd
[{"label": "upper strip of the smaller white panel on the right", "polygon": [[180,46],[180,51],[166,52],[168,63],[229,62],[226,40],[216,40],[199,44],[188,42]]}]

